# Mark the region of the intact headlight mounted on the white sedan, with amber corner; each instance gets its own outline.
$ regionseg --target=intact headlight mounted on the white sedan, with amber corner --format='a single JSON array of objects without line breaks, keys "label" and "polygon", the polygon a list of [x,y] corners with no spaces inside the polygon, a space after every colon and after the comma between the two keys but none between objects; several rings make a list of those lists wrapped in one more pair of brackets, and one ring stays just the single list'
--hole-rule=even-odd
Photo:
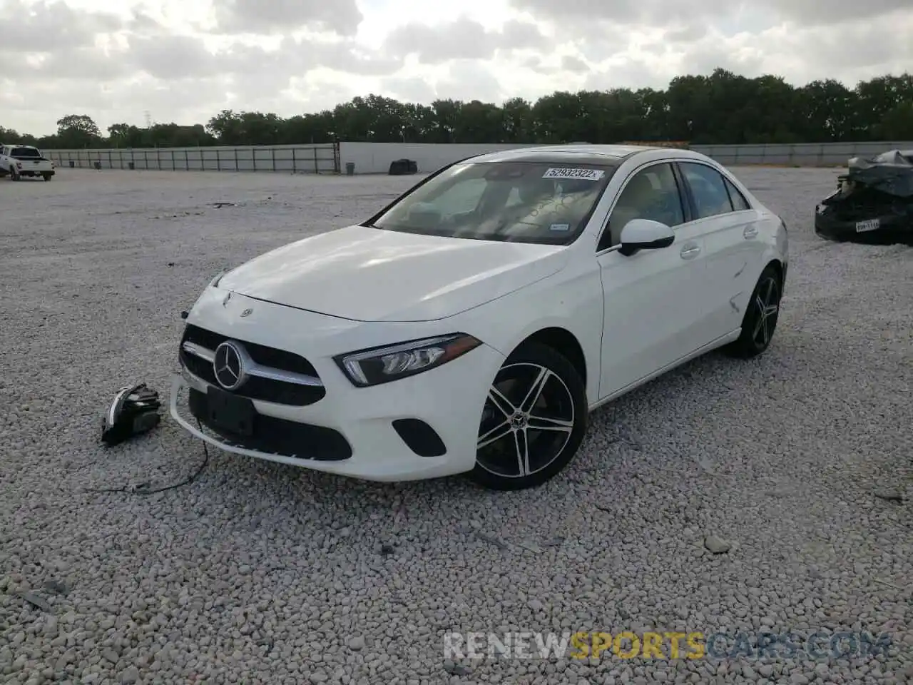
[{"label": "intact headlight mounted on the white sedan, with amber corner", "polygon": [[354,385],[366,387],[421,374],[477,348],[481,341],[467,333],[402,342],[334,357]]}]

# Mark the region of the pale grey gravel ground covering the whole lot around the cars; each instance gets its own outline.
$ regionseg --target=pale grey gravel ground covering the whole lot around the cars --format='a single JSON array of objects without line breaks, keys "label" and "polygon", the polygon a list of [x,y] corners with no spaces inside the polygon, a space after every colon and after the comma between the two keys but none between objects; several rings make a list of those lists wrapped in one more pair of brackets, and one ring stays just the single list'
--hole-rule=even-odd
[{"label": "pale grey gravel ground covering the whole lot around the cars", "polygon": [[[913,254],[814,237],[836,170],[736,172],[791,229],[771,349],[625,396],[566,475],[497,494],[210,450],[193,482],[144,495],[129,490],[192,476],[202,444],[165,419],[100,448],[118,387],[167,395],[179,312],[217,270],[368,216],[413,179],[0,183],[0,681],[913,679]],[[450,632],[651,629],[892,644],[818,660],[444,654]]]}]

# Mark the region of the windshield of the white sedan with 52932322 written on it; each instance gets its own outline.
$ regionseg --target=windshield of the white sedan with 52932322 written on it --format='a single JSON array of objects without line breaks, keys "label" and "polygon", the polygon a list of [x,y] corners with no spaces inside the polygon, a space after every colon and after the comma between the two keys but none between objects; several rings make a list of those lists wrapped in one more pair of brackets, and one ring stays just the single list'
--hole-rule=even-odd
[{"label": "windshield of the white sedan with 52932322 written on it", "polygon": [[616,168],[538,161],[456,164],[405,195],[371,226],[567,245],[586,226]]}]

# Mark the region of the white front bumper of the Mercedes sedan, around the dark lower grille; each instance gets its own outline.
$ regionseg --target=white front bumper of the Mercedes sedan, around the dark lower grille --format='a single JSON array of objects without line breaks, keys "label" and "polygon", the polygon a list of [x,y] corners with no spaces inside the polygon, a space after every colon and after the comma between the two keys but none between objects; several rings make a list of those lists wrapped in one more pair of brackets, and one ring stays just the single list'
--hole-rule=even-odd
[{"label": "white front bumper of the Mercedes sedan, around the dark lower grille", "polygon": [[[233,296],[235,299],[238,296]],[[246,306],[249,301],[240,300],[243,303],[237,304],[238,307]],[[227,452],[366,480],[437,478],[465,472],[475,466],[479,419],[488,386],[504,362],[503,355],[483,344],[424,374],[373,387],[356,387],[332,361],[331,353],[318,350],[327,349],[325,338],[339,341],[332,353],[372,346],[370,342],[364,343],[363,330],[358,335],[350,335],[339,331],[341,326],[349,325],[341,324],[341,320],[262,301],[257,301],[255,306],[257,314],[261,314],[255,342],[268,344],[268,332],[282,320],[283,327],[273,329],[277,340],[272,344],[291,348],[307,357],[320,374],[326,395],[307,406],[253,400],[257,412],[255,424],[260,424],[258,435],[256,439],[235,437],[212,423],[207,424],[205,395],[209,383],[184,368],[173,378],[170,413],[189,433]],[[205,304],[200,309],[207,311]],[[192,312],[188,322],[250,340],[254,330],[243,330],[245,324],[238,324],[233,331],[221,313],[219,311],[219,317],[207,321],[205,313],[197,312],[194,316]],[[297,344],[292,345],[289,339],[282,340],[290,330],[309,331],[310,334],[294,336]],[[405,337],[401,339],[424,334],[415,333],[404,333]],[[302,349],[311,347],[308,344],[310,336],[314,341],[312,349]],[[344,341],[353,337],[360,342]],[[386,342],[397,340],[388,338]],[[194,391],[198,394],[191,402]],[[402,423],[404,419],[406,424]],[[417,425],[416,420],[425,426]],[[416,431],[426,437],[427,427],[443,443],[443,454],[441,449],[429,450],[415,442]],[[411,428],[412,433],[406,433],[406,428]]]}]

